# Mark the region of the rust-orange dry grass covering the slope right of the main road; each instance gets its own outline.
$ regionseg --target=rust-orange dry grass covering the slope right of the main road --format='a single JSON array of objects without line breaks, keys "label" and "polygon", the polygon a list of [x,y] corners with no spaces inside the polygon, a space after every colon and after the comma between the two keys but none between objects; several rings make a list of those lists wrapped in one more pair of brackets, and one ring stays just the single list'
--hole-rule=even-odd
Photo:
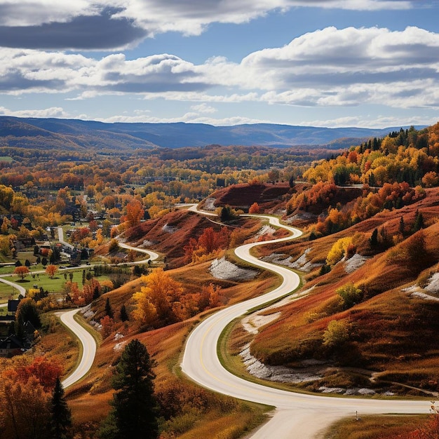
[{"label": "rust-orange dry grass covering the slope right of the main road", "polygon": [[[404,215],[414,218],[416,209],[422,208],[423,214],[427,212],[426,215],[433,218],[439,214],[438,197],[438,190],[431,191],[426,199],[407,206]],[[343,235],[349,236],[355,231],[370,233],[378,224],[389,233],[393,229],[396,231],[400,215],[397,210],[382,212],[339,234],[271,248],[271,251],[299,256],[307,246],[312,246],[315,250],[309,253],[311,260],[320,262],[332,243]],[[281,318],[266,325],[255,337],[252,354],[272,365],[298,365],[306,358],[318,358],[338,367],[367,367],[370,371],[381,372],[379,378],[382,381],[376,384],[377,387],[417,396],[425,396],[422,389],[437,391],[439,349],[435,344],[435,334],[439,330],[438,306],[401,291],[407,282],[416,281],[419,273],[430,267],[436,269],[439,223],[431,221],[430,224],[424,229],[426,257],[410,263],[393,262],[389,250],[372,257],[351,274],[344,271],[342,262],[330,273],[313,278],[304,287],[315,286],[311,295],[283,306]],[[401,243],[398,251],[402,253],[404,249],[405,243]],[[266,248],[262,252],[266,252]],[[359,285],[365,297],[362,303],[344,310],[335,290],[349,282]],[[323,332],[327,324],[330,320],[342,318],[351,324],[350,342],[339,349],[326,349]],[[346,375],[346,386],[351,378]],[[326,380],[330,386],[337,386],[340,381],[343,380],[337,374]],[[403,386],[395,385],[393,381]]]}]

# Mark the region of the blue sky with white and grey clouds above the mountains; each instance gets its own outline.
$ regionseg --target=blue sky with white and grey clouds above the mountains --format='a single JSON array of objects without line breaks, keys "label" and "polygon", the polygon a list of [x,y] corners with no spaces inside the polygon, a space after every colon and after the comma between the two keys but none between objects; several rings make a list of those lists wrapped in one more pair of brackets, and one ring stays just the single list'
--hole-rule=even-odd
[{"label": "blue sky with white and grey clouds above the mountains", "polygon": [[439,1],[0,0],[0,115],[439,120]]}]

